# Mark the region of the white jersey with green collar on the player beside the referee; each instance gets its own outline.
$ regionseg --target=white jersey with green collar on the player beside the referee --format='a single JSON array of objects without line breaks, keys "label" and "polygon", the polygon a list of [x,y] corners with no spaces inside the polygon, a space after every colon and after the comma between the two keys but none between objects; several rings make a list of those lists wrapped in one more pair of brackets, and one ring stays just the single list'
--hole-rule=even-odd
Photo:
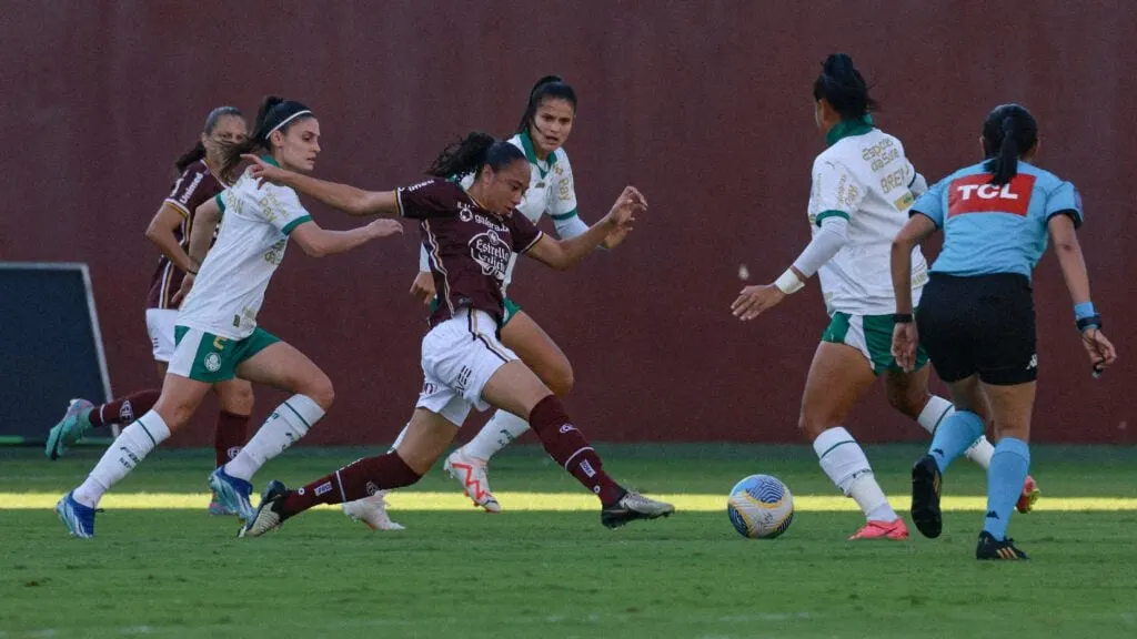
[{"label": "white jersey with green collar on the player beside the referee", "polygon": [[[890,252],[893,239],[915,201],[916,171],[896,138],[872,121],[843,122],[825,138],[829,148],[813,160],[810,225],[816,234],[830,216],[848,221],[848,242],[818,275],[829,315],[896,313]],[[919,304],[928,280],[920,247],[912,251],[912,299]]]}]

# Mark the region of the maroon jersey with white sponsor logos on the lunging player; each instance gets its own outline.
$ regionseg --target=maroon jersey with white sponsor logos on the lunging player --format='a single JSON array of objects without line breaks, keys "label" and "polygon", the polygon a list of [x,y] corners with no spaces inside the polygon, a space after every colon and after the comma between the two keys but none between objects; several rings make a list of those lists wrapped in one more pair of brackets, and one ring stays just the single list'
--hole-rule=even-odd
[{"label": "maroon jersey with white sponsor logos on the lunging player", "polygon": [[396,193],[400,214],[420,221],[430,257],[439,298],[431,326],[454,317],[459,308],[484,310],[500,324],[509,257],[533,248],[543,233],[516,210],[504,217],[485,210],[447,180],[429,180]]}]

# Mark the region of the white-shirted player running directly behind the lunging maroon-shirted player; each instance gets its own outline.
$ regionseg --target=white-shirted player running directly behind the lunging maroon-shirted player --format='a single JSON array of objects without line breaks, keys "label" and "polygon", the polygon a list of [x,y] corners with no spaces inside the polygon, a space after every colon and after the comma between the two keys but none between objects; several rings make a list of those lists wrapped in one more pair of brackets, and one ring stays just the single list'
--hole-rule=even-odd
[{"label": "white-shirted player running directly behind the lunging maroon-shirted player", "polygon": [[[581,235],[589,229],[576,214],[572,165],[563,148],[575,119],[576,92],[561,77],[545,76],[538,80],[530,91],[517,134],[509,139],[509,143],[525,153],[530,166],[529,190],[517,210],[534,224],[548,215],[553,218],[557,235],[562,240]],[[468,188],[472,180],[467,176],[463,185]],[[614,233],[601,247],[613,249],[625,236],[625,232]],[[568,358],[553,338],[508,297],[508,287],[516,263],[515,254],[509,259],[503,287],[503,292],[506,293],[506,316],[501,327],[501,342],[516,352],[554,393],[565,397],[573,384]],[[434,281],[425,250],[421,254],[418,271],[410,292],[425,302],[433,304]],[[487,512],[497,513],[501,507],[490,491],[487,462],[526,430],[529,423],[525,420],[506,410],[497,410],[468,443],[447,457],[443,467],[462,484],[474,504]],[[396,445],[404,433],[406,429],[399,434]],[[383,495],[345,504],[343,512],[376,530],[401,528],[390,522],[384,511]]]}]

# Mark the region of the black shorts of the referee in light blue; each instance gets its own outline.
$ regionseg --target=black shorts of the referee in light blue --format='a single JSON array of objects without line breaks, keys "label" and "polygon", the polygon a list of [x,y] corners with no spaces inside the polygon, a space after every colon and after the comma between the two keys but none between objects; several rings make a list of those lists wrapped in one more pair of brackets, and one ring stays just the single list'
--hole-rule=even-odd
[{"label": "black shorts of the referee in light blue", "polygon": [[1035,301],[1030,281],[1022,275],[932,273],[920,299],[916,327],[945,382],[978,373],[988,384],[1013,385],[1038,376]]}]

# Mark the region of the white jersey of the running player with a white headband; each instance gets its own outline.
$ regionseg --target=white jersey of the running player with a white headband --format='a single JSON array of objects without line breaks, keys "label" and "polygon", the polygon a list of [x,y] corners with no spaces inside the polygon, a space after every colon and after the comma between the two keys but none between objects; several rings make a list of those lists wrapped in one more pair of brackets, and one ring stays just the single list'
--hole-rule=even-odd
[{"label": "white jersey of the running player with a white headband", "polygon": [[217,241],[182,302],[177,324],[243,340],[257,327],[257,312],[284,259],[289,233],[312,216],[296,191],[258,186],[248,172],[216,199],[223,215]]}]

